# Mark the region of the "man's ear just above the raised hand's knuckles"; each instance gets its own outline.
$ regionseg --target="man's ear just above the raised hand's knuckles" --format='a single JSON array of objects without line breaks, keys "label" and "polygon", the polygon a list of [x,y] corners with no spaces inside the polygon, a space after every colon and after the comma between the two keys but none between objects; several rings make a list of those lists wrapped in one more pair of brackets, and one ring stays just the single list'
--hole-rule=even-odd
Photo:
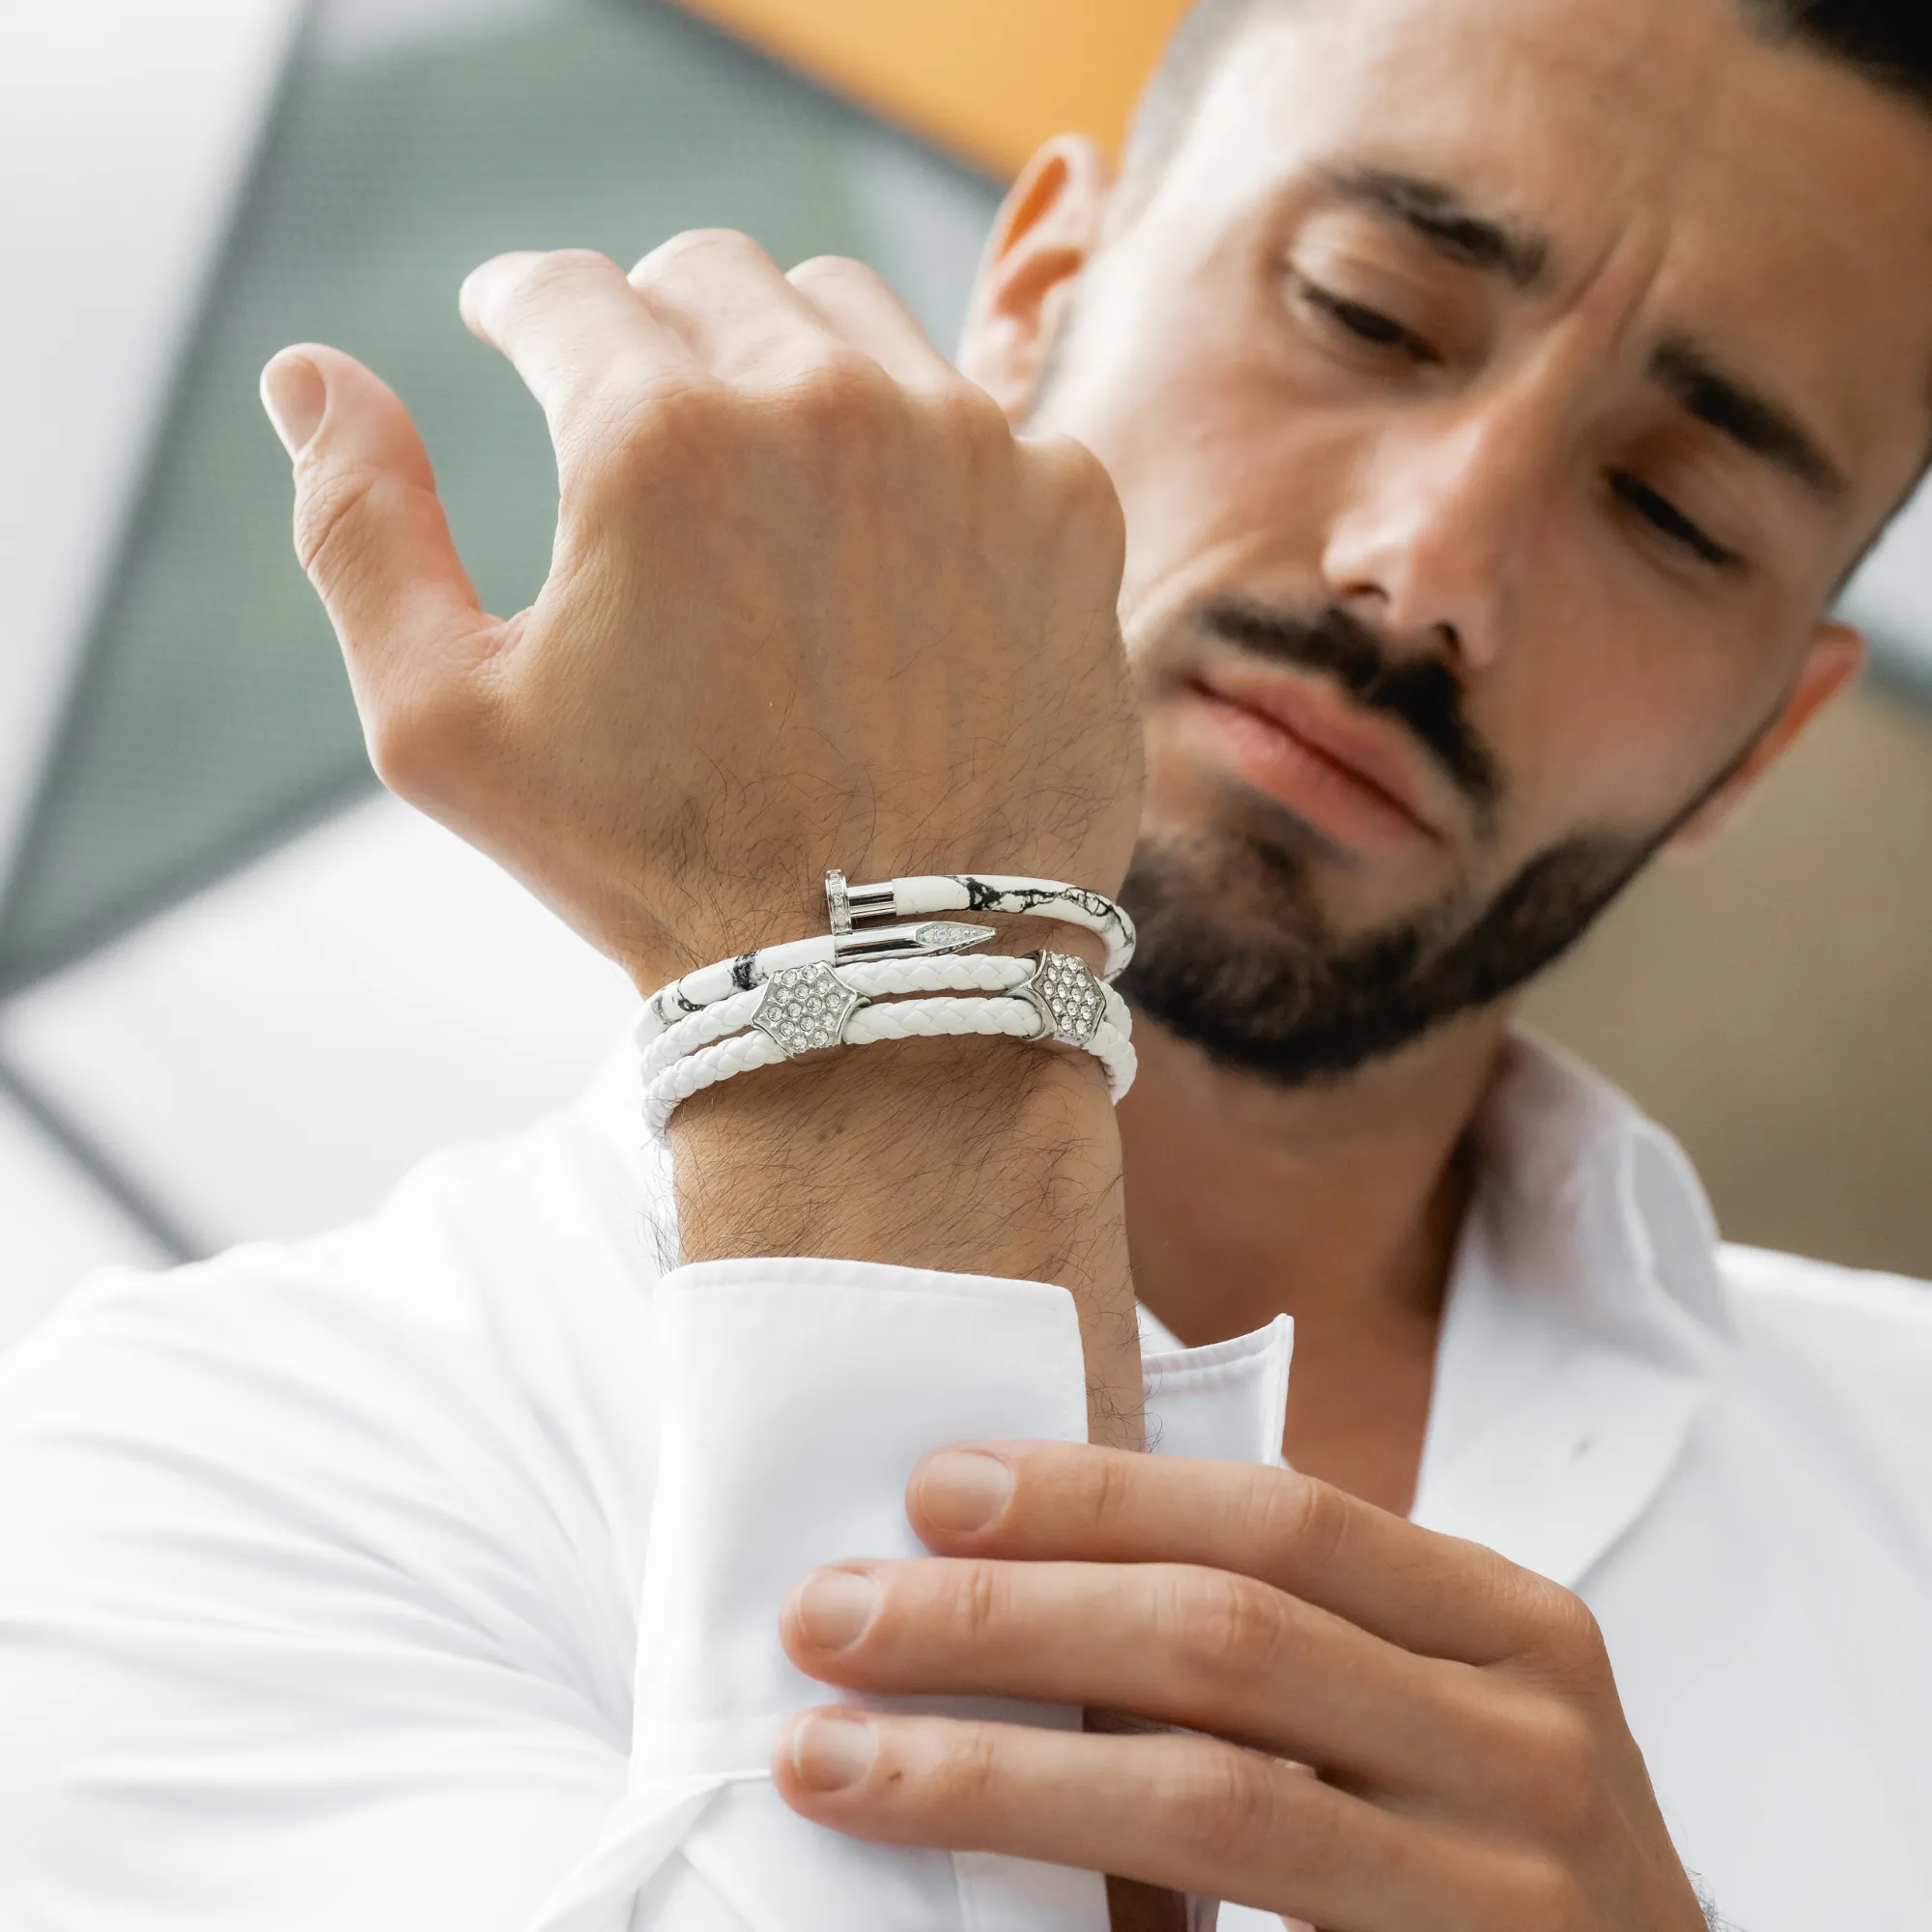
[{"label": "man's ear just above the raised hand's knuckles", "polygon": [[1101,151],[1055,135],[1001,203],[974,282],[960,369],[1018,423],[1072,307],[1074,280],[1099,245],[1113,187]]}]

